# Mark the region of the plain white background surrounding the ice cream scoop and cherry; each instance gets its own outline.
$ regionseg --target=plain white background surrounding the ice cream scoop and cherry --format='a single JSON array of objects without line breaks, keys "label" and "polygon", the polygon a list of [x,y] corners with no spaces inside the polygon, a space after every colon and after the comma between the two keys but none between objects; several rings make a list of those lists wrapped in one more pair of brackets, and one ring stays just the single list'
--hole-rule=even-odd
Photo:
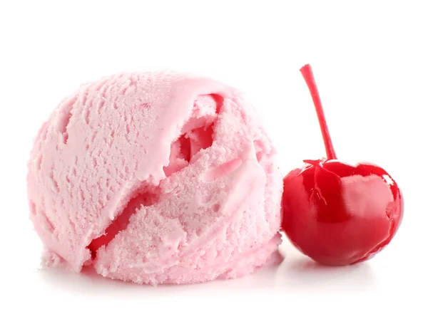
[{"label": "plain white background surrounding the ice cream scoop and cherry", "polygon": [[[1,1],[0,328],[427,328],[425,2]],[[322,268],[284,244],[279,268],[158,288],[39,270],[26,162],[65,95],[120,71],[212,76],[250,95],[285,174],[324,155],[305,63],[340,159],[381,165],[404,192],[381,254]]]}]

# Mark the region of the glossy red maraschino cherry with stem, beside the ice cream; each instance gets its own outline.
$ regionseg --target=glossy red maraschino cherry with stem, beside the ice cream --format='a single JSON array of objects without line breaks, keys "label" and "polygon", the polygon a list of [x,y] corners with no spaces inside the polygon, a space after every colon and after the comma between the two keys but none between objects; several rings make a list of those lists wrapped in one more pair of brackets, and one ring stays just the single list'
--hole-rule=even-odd
[{"label": "glossy red maraschino cherry with stem, beside the ice cream", "polygon": [[336,160],[310,65],[300,72],[312,95],[327,159],[304,160],[284,178],[282,229],[318,263],[347,265],[384,249],[402,221],[403,198],[394,179],[374,164]]}]

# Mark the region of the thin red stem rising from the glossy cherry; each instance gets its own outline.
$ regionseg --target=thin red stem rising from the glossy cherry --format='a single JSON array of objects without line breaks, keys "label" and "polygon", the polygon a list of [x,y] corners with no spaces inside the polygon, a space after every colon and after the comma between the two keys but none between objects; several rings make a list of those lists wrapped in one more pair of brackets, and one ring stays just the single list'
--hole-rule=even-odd
[{"label": "thin red stem rising from the glossy cherry", "polygon": [[315,105],[315,110],[317,110],[318,122],[320,122],[320,128],[322,133],[322,139],[324,140],[325,152],[327,152],[327,160],[335,160],[336,152],[332,144],[332,138],[330,137],[330,132],[328,131],[327,122],[325,121],[324,110],[322,109],[320,93],[318,93],[317,84],[315,83],[314,73],[309,64],[306,64],[300,68],[300,72],[305,79],[307,88],[309,88],[310,95],[312,96],[312,101]]}]

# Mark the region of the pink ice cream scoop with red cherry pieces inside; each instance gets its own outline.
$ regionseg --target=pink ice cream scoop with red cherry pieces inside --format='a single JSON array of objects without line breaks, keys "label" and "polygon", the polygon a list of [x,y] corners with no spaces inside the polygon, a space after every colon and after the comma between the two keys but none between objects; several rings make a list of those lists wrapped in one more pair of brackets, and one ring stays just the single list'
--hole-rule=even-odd
[{"label": "pink ice cream scoop with red cherry pieces inside", "polygon": [[154,285],[252,273],[281,241],[275,157],[252,105],[215,80],[133,73],[82,85],[31,151],[45,260]]}]

